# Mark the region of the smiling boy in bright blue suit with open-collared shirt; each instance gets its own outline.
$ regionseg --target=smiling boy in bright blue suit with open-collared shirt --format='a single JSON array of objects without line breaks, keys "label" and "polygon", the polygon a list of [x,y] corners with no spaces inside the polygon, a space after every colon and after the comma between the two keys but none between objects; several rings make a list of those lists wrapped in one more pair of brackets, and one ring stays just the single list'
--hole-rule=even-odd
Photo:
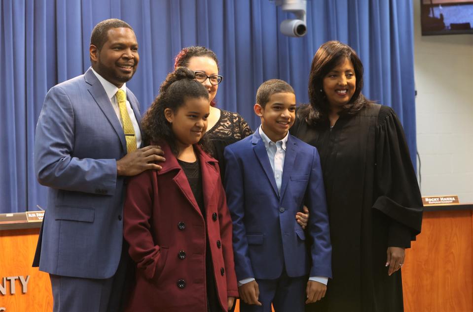
[{"label": "smiling boy in bright blue suit with open-collared shirt", "polygon": [[[295,95],[272,79],[256,94],[261,126],[224,152],[241,311],[304,311],[331,278],[324,181],[316,148],[289,134]],[[284,169],[284,170],[283,170]],[[307,232],[294,219],[309,208]],[[306,234],[309,237],[306,238]]]}]

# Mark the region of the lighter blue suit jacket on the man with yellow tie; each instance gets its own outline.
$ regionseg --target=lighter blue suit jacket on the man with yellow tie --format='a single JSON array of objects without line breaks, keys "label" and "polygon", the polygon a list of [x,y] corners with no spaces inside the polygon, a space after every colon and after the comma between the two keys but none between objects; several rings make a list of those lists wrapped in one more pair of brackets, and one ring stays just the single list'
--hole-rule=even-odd
[{"label": "lighter blue suit jacket on the man with yellow tie", "polygon": [[[138,100],[127,98],[140,123]],[[36,125],[35,170],[47,207],[33,265],[51,274],[113,276],[123,242],[123,128],[91,68],[49,90]]]}]

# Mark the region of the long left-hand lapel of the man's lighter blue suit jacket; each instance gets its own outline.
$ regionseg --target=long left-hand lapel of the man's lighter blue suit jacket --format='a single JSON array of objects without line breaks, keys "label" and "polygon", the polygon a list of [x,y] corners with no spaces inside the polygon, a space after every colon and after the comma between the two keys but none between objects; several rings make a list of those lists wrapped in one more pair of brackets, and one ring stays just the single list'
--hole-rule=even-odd
[{"label": "long left-hand lapel of the man's lighter blue suit jacket", "polygon": [[89,93],[95,99],[97,104],[99,105],[102,112],[104,112],[105,116],[107,117],[109,123],[113,126],[116,134],[120,138],[121,146],[123,151],[126,153],[126,140],[125,140],[125,133],[123,132],[123,128],[116,117],[115,111],[111,106],[110,99],[107,96],[107,93],[104,90],[104,87],[100,83],[99,79],[95,76],[92,72],[92,69],[89,68],[84,74],[85,81],[90,84]]}]

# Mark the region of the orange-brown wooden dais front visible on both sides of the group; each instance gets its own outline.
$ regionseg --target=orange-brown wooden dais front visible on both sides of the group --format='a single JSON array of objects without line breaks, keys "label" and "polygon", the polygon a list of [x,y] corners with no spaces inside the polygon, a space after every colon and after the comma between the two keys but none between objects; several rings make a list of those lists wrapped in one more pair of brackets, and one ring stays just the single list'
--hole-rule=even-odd
[{"label": "orange-brown wooden dais front visible on both sides of the group", "polygon": [[[0,231],[0,285],[4,277],[30,276],[26,294],[16,280],[16,293],[11,295],[6,281],[7,293],[0,293],[5,312],[52,311],[49,277],[31,267],[38,232]],[[406,251],[402,276],[406,312],[473,312],[472,211],[425,212],[422,233]]]}]

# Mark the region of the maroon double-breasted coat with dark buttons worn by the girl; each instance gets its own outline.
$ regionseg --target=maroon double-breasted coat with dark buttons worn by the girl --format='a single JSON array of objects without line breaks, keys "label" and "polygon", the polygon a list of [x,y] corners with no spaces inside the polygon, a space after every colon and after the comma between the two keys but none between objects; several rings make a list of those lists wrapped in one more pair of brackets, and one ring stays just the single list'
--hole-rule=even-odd
[{"label": "maroon double-breasted coat with dark buttons worn by the girl", "polygon": [[[238,296],[232,221],[218,162],[196,146],[202,172],[205,216],[167,144],[160,171],[148,170],[127,184],[124,236],[137,263],[128,311],[207,312],[206,237],[212,252],[222,311]],[[204,221],[204,218],[206,221]]]}]

